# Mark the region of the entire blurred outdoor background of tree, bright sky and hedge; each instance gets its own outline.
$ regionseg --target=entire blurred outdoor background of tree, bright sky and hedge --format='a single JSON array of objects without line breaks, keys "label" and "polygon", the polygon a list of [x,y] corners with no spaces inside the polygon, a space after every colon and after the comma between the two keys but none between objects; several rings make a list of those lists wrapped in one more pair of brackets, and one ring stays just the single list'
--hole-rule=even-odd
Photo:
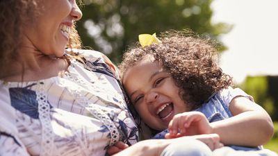
[{"label": "entire blurred outdoor background of tree, bright sky and hedge", "polygon": [[83,0],[84,48],[117,64],[141,33],[191,29],[218,40],[220,66],[275,122],[265,148],[278,153],[277,0]]}]

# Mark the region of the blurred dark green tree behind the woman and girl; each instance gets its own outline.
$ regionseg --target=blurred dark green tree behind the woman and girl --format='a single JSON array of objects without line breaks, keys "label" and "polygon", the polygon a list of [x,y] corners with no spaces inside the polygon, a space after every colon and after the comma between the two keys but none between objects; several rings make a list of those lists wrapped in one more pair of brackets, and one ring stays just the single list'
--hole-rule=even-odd
[{"label": "blurred dark green tree behind the woman and girl", "polygon": [[[211,24],[211,0],[83,0],[83,17],[77,22],[83,46],[108,55],[115,63],[141,33],[190,28],[215,40],[231,26]],[[220,43],[220,50],[224,46]]]}]

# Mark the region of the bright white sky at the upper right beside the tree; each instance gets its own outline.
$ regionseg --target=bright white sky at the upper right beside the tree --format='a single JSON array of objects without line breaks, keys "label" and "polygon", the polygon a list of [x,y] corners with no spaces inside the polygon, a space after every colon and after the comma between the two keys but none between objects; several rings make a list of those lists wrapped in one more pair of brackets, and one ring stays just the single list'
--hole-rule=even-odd
[{"label": "bright white sky at the upper right beside the tree", "polygon": [[213,22],[234,25],[220,37],[228,47],[222,54],[222,69],[237,83],[243,83],[248,75],[277,76],[278,1],[215,0],[211,7]]}]

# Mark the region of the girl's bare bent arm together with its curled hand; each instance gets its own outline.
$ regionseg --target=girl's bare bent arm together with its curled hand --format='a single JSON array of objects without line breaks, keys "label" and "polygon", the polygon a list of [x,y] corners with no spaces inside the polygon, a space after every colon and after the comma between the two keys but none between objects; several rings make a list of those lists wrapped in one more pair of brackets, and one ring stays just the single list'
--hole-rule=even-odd
[{"label": "girl's bare bent arm together with its curled hand", "polygon": [[[233,116],[208,123],[201,112],[183,112],[173,117],[170,133],[165,138],[216,133],[223,144],[260,146],[273,135],[273,123],[265,110],[244,96],[236,96],[229,104]],[[179,132],[178,132],[179,130]]]}]

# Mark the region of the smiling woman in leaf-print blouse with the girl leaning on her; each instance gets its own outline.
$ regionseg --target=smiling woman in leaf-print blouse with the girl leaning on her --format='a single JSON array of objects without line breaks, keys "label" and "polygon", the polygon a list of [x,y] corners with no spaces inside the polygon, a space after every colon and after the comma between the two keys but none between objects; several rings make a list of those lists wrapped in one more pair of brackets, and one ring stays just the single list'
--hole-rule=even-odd
[{"label": "smiling woman in leaf-print blouse with the girl leaning on her", "polygon": [[[72,50],[81,16],[75,0],[0,1],[0,155],[104,155],[117,141],[138,141],[115,66]],[[218,136],[197,138],[219,146]],[[122,153],[160,155],[171,141]]]}]

